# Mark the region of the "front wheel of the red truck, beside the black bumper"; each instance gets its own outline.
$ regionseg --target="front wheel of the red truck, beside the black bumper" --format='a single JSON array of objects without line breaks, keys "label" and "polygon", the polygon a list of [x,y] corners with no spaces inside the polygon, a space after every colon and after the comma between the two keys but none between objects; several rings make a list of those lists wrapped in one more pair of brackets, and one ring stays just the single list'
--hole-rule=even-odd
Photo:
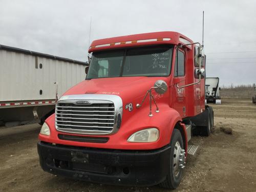
[{"label": "front wheel of the red truck, beside the black bumper", "polygon": [[166,179],[160,183],[160,186],[175,189],[180,184],[185,162],[183,140],[178,129],[174,129],[173,131],[172,140],[170,141],[170,156],[168,158],[168,174]]}]

